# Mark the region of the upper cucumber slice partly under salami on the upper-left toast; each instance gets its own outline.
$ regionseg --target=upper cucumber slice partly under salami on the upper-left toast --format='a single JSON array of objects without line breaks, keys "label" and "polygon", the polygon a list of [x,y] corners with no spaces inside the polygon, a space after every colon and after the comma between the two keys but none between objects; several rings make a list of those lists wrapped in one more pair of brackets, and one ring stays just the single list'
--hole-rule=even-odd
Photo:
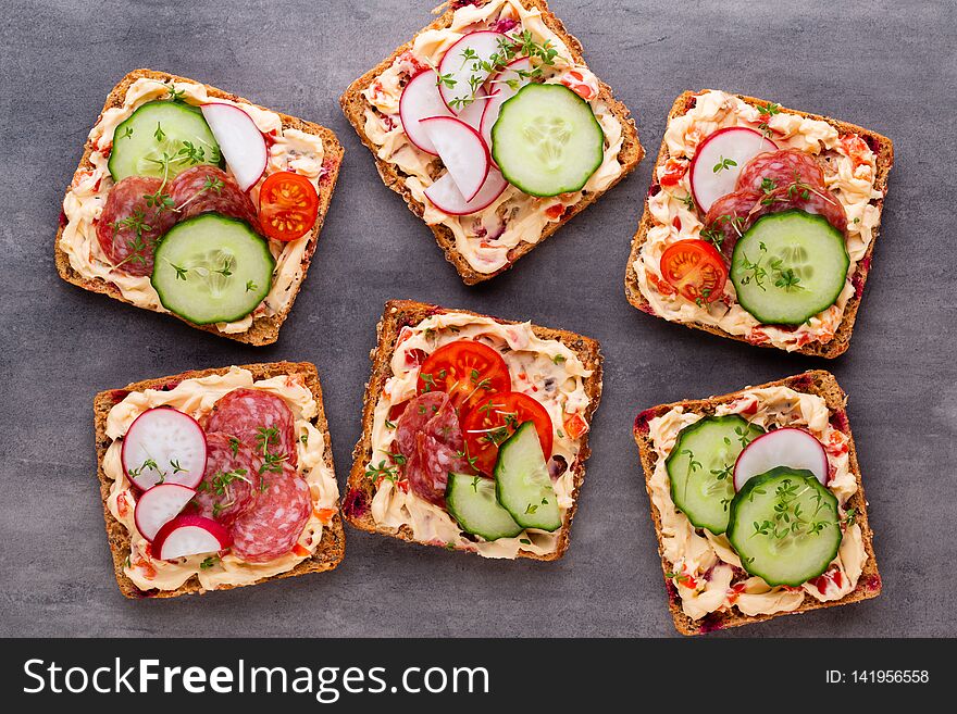
[{"label": "upper cucumber slice partly under salami on the upper-left toast", "polygon": [[113,133],[110,174],[172,179],[190,166],[219,166],[223,154],[198,107],[160,100],[137,108]]}]

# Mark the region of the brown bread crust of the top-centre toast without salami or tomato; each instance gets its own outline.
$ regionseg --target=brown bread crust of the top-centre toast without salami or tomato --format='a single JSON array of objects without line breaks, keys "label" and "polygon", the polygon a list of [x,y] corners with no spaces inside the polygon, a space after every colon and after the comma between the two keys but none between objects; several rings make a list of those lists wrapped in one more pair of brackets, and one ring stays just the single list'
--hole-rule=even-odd
[{"label": "brown bread crust of the top-centre toast without salami or tomato", "polygon": [[[555,14],[548,9],[548,4],[545,2],[545,0],[522,0],[522,3],[526,8],[537,8],[538,10],[540,10],[542,17],[548,28],[551,29],[556,35],[558,35],[562,39],[562,41],[564,41],[564,43],[571,51],[575,62],[584,64],[584,59],[582,58],[582,43],[577,40],[577,38],[569,34],[569,32],[564,28],[562,22],[558,17],[556,17]],[[442,29],[448,27],[452,22],[453,14],[455,10],[449,7],[445,11],[445,13],[443,13],[435,22],[424,27],[422,30],[420,30],[420,33],[428,29]],[[409,210],[421,218],[425,206],[421,202],[417,201],[413,198],[412,192],[408,188],[406,188],[405,178],[407,177],[407,174],[399,171],[397,166],[380,159],[376,155],[378,147],[373,143],[370,140],[369,136],[365,134],[364,112],[366,108],[366,102],[362,97],[362,91],[366,87],[369,87],[378,75],[381,75],[389,66],[391,66],[396,58],[398,58],[406,50],[410,49],[412,47],[413,40],[410,40],[399,47],[386,60],[384,60],[382,63],[380,63],[378,65],[363,74],[361,77],[359,77],[351,85],[349,85],[349,88],[346,89],[345,93],[339,99],[339,103],[343,107],[343,112],[345,113],[346,118],[349,120],[349,123],[356,128],[356,133],[359,135],[362,143],[364,143],[372,152],[382,180],[388,188],[401,196],[408,204]],[[614,181],[612,181],[612,184],[604,191],[596,191],[594,193],[591,193],[583,200],[579,201],[576,204],[569,206],[560,221],[549,223],[546,226],[545,230],[542,234],[542,237],[538,239],[537,242],[530,243],[523,241],[515,246],[509,252],[509,262],[493,273],[478,273],[469,264],[469,261],[465,260],[464,255],[462,255],[462,253],[456,248],[456,238],[449,228],[443,225],[428,226],[428,228],[435,235],[436,242],[445,253],[446,260],[451,263],[459,272],[459,275],[465,283],[465,285],[475,285],[477,283],[488,280],[490,278],[494,278],[496,275],[499,275],[500,273],[509,270],[520,258],[529,253],[536,246],[545,242],[548,237],[555,234],[573,216],[575,216],[576,214],[585,210],[588,205],[598,200],[598,198],[600,198],[605,192],[611,190],[611,188],[616,184],[618,184],[622,178],[634,171],[635,166],[638,165],[638,162],[641,162],[642,158],[645,155],[645,150],[638,140],[638,133],[635,128],[635,122],[630,117],[627,108],[620,101],[614,99],[611,92],[611,88],[608,85],[606,85],[600,79],[598,80],[598,85],[599,97],[608,104],[612,113],[616,115],[616,117],[618,117],[619,122],[621,122],[622,125],[623,143],[621,147],[621,152],[618,156],[619,162],[622,164],[621,175],[616,178]]]}]

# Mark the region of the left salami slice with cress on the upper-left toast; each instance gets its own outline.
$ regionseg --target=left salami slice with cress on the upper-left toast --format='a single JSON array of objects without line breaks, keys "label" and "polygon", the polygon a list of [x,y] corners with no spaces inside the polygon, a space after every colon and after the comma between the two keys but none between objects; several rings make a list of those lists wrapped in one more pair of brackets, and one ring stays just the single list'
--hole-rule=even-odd
[{"label": "left salami slice with cress on the upper-left toast", "polygon": [[107,196],[97,222],[97,242],[113,265],[125,275],[153,272],[153,252],[160,238],[176,223],[176,213],[156,205],[159,178],[127,176]]}]

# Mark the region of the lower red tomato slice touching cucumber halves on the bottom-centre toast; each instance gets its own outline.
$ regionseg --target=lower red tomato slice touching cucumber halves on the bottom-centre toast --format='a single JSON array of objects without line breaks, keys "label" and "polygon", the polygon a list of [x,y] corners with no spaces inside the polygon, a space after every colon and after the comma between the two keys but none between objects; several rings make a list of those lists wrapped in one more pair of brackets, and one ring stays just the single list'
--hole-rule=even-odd
[{"label": "lower red tomato slice touching cucumber halves on the bottom-centre toast", "polygon": [[474,459],[474,466],[492,476],[498,461],[498,447],[520,425],[534,422],[546,461],[551,456],[554,429],[548,412],[535,399],[519,391],[496,394],[486,399],[462,419],[465,454]]}]

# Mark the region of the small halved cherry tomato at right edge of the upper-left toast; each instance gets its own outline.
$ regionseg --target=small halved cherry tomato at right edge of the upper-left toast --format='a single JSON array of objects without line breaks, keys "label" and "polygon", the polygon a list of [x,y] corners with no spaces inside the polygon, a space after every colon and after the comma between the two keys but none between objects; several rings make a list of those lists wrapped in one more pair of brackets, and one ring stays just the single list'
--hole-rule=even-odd
[{"label": "small halved cherry tomato at right edge of the upper-left toast", "polygon": [[319,196],[306,176],[278,171],[259,189],[259,223],[269,238],[301,238],[312,230],[318,214]]}]

